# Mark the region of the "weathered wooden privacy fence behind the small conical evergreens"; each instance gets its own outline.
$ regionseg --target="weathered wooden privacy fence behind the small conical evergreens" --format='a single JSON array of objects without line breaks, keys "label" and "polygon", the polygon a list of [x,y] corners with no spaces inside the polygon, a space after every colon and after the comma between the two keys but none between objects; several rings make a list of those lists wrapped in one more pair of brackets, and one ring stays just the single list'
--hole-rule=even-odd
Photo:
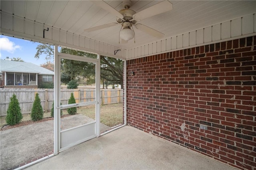
[{"label": "weathered wooden privacy fence behind the small conical evergreens", "polygon": [[[13,94],[17,96],[22,114],[31,113],[36,93],[39,94],[44,112],[50,111],[54,100],[53,89],[25,89],[4,88],[0,89],[0,116],[6,112]],[[95,100],[95,89],[61,89],[61,104],[68,104],[71,93],[74,94],[76,103]],[[123,89],[100,89],[100,104],[113,104],[123,102]]]}]

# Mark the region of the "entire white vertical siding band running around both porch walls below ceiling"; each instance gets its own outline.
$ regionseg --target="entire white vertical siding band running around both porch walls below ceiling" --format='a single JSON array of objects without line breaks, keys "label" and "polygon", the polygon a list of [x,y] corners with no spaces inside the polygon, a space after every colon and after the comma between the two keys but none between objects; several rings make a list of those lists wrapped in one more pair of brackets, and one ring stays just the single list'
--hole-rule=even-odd
[{"label": "entire white vertical siding band running around both porch walls below ceiling", "polygon": [[[223,40],[256,35],[256,16],[255,14],[241,16],[233,20],[186,32],[184,34],[165,37],[163,40],[158,40],[157,42],[144,44],[127,50],[2,11],[0,26],[1,33],[4,35],[15,35],[28,40],[68,46],[70,48],[96,52],[106,56],[132,59],[184,49],[190,46],[201,46]],[[43,30],[47,28],[49,28],[49,30],[44,31],[45,34],[43,38]],[[116,49],[120,49],[121,52],[117,52],[117,54],[114,55],[114,50]]]}]

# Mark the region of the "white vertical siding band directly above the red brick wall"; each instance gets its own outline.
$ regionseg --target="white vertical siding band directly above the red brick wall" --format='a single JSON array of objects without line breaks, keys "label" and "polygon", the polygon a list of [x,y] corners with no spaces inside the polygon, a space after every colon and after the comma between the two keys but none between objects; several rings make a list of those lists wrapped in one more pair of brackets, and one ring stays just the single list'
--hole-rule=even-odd
[{"label": "white vertical siding band directly above the red brick wall", "polygon": [[[141,51],[139,52],[138,50],[135,50],[135,53],[138,52],[138,54],[129,53],[127,59],[140,58],[148,55],[184,49],[191,46],[201,46],[204,44],[221,42],[223,40],[254,35],[256,35],[256,16],[255,14],[250,14],[235,18],[234,20],[228,20],[226,22],[136,47],[141,48]],[[129,51],[132,50],[134,51],[134,48]]]}]

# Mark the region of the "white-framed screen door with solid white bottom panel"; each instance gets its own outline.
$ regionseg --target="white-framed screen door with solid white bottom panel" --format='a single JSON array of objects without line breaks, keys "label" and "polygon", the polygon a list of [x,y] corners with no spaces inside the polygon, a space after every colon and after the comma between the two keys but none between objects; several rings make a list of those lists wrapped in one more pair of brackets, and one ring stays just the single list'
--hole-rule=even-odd
[{"label": "white-framed screen door with solid white bottom panel", "polygon": [[58,66],[58,80],[61,80],[58,86],[58,150],[61,151],[98,136],[99,74],[95,58],[59,53]]}]

